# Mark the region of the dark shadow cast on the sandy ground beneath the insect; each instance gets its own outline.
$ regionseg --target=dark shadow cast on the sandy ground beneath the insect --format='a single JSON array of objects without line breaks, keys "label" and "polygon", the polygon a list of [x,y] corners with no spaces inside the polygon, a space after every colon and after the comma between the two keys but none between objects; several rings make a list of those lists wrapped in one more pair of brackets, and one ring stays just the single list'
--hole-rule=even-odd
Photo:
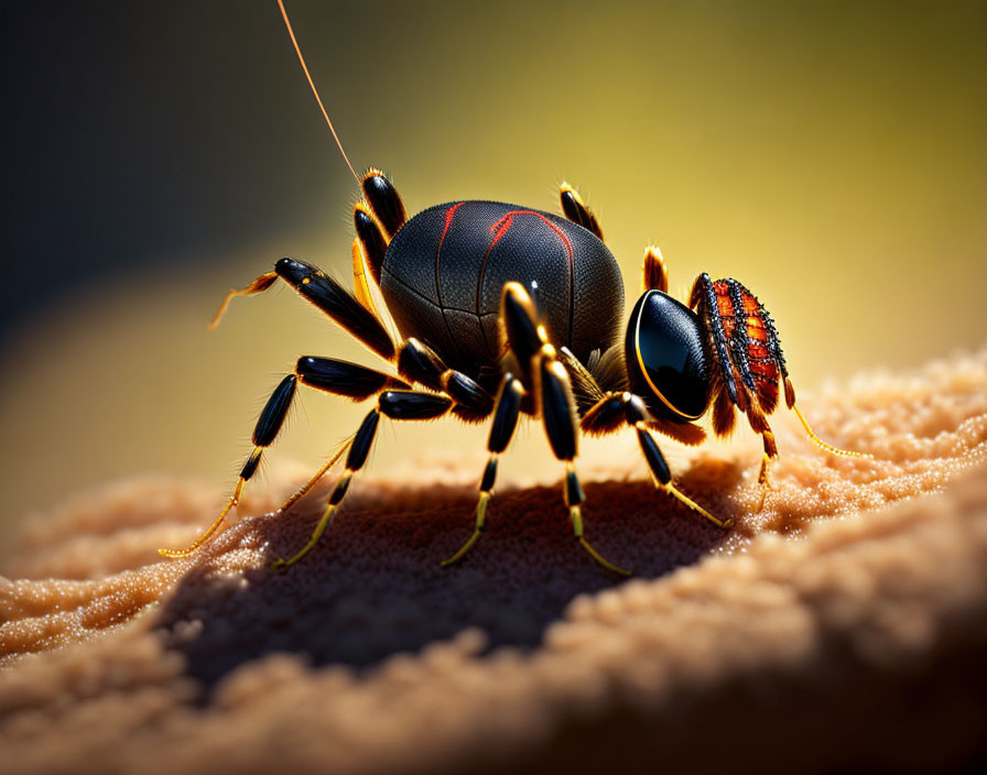
[{"label": "dark shadow cast on the sandy ground beneath the insect", "polygon": [[[739,470],[720,474],[734,477],[724,490],[739,484]],[[729,536],[648,482],[590,483],[586,495],[587,538],[636,578],[696,563]],[[533,648],[574,598],[625,581],[573,539],[557,488],[500,494],[479,543],[441,567],[468,537],[474,504],[465,488],[356,492],[319,545],[283,572],[269,566],[304,544],[314,504],[286,519],[247,520],[182,579],[161,627],[189,675],[212,687],[274,652],[367,668],[467,627],[486,633],[488,650]],[[249,567],[236,566],[238,547],[254,548],[242,553]]]}]

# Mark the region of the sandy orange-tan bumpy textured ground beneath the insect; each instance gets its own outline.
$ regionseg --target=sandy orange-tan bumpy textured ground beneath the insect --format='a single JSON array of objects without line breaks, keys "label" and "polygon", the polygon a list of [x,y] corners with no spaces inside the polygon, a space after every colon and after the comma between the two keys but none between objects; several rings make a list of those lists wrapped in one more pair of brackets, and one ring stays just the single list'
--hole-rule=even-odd
[{"label": "sandy orange-tan bumpy textured ground beneath the insect", "polygon": [[[584,460],[587,535],[555,487],[501,489],[466,560],[476,466],[354,484],[288,574],[318,505],[249,516],[200,555],[212,488],[144,479],[35,521],[0,581],[6,773],[911,772],[987,738],[987,350],[805,395],[832,458],[777,419],[690,450],[683,489],[722,532]],[[674,447],[671,443],[666,447]],[[620,465],[618,465],[620,463]],[[441,482],[430,485],[416,481]],[[263,514],[299,478],[246,499]]]}]

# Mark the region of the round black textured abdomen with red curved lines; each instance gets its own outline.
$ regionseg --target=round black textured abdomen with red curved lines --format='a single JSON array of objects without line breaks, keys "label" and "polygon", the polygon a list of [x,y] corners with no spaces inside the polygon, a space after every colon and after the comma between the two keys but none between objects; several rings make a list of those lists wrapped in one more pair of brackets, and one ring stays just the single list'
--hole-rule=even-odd
[{"label": "round black textured abdomen with red curved lines", "polygon": [[381,293],[404,337],[471,376],[497,362],[500,292],[521,283],[550,339],[581,360],[620,336],[623,281],[594,234],[560,216],[494,201],[424,210],[388,247]]}]

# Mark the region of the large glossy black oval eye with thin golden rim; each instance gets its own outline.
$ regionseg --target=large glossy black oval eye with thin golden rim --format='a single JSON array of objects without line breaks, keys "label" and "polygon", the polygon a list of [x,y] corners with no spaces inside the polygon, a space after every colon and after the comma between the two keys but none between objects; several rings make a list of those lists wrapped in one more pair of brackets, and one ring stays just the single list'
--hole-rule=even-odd
[{"label": "large glossy black oval eye with thin golden rim", "polygon": [[653,414],[695,419],[709,405],[708,359],[698,316],[661,291],[634,305],[625,340],[632,392]]}]

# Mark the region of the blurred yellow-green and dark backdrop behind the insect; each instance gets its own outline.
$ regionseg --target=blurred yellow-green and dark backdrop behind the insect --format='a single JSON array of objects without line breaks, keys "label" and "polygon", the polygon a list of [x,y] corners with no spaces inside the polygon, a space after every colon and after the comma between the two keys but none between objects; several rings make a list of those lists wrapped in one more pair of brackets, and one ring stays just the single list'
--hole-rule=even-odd
[{"label": "blurred yellow-green and dark backdrop behind the insect", "polygon": [[[410,212],[557,209],[568,179],[629,304],[652,241],[673,290],[739,279],[802,394],[984,341],[984,2],[288,8],[350,159],[388,171]],[[117,478],[232,484],[297,354],[373,358],[286,288],[206,330],[282,255],[350,271],[355,183],[273,0],[0,19],[2,554],[25,515]],[[365,407],[302,406],[269,459],[314,470]],[[479,477],[485,436],[391,424],[371,465],[452,446]],[[505,477],[556,476],[523,436]]]}]

